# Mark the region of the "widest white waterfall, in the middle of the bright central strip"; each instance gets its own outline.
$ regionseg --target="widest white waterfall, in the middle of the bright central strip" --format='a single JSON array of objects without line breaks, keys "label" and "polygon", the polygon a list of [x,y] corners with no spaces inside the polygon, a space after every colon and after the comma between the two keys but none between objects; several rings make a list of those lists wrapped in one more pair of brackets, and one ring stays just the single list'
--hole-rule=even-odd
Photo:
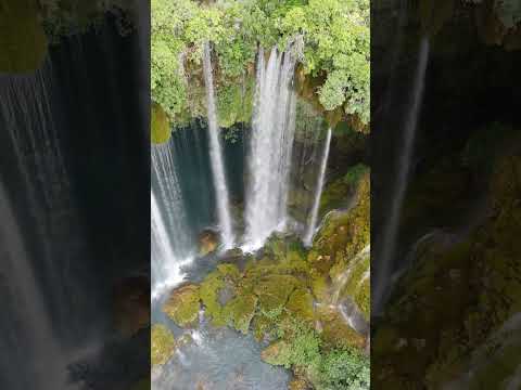
[{"label": "widest white waterfall, in the middle of the bright central strip", "polygon": [[267,65],[260,49],[247,159],[244,250],[259,248],[287,223],[289,171],[295,130],[292,90],[295,55],[271,50]]}]

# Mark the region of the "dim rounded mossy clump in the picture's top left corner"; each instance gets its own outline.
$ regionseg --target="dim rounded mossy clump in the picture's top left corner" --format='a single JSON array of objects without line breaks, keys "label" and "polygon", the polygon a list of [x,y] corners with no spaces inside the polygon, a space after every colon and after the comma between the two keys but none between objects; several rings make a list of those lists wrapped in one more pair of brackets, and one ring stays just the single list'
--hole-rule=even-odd
[{"label": "dim rounded mossy clump in the picture's top left corner", "polygon": [[41,67],[48,40],[36,0],[3,0],[0,30],[0,73],[33,73]]}]

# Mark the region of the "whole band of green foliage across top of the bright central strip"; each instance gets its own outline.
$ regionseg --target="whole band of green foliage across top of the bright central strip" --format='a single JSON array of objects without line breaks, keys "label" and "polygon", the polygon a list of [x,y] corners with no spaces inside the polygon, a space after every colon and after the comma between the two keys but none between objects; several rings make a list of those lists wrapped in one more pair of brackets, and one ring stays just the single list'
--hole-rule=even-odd
[{"label": "whole band of green foliage across top of the bright central strip", "polygon": [[[343,107],[369,120],[368,0],[152,0],[152,100],[174,123],[203,113],[193,109],[193,77],[201,78],[201,55],[212,42],[219,121],[247,121],[252,73],[258,46],[284,50],[302,37],[305,72],[323,77],[318,99],[323,108]],[[190,76],[190,82],[186,78]],[[246,87],[249,93],[239,93]],[[219,92],[220,91],[220,92]],[[220,96],[219,96],[220,94]],[[244,103],[246,102],[246,103]],[[246,107],[246,109],[242,109]]]}]

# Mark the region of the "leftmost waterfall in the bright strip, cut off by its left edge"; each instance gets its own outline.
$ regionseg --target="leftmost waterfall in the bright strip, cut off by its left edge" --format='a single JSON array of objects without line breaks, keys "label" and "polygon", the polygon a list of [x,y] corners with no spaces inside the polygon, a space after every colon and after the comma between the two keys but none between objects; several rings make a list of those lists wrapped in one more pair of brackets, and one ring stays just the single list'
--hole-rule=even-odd
[{"label": "leftmost waterfall in the bright strip, cut off by its left edge", "polygon": [[170,143],[171,140],[166,144],[152,145],[150,211],[153,299],[182,281],[180,269],[191,261],[190,251],[193,248]]}]

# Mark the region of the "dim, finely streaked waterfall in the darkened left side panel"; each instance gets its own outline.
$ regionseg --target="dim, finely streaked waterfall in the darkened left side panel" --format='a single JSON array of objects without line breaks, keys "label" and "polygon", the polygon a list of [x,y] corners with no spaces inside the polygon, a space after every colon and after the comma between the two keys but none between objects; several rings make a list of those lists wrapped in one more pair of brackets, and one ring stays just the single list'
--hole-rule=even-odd
[{"label": "dim, finely streaked waterfall in the darkened left side panel", "polygon": [[64,108],[50,57],[33,74],[0,77],[5,158],[0,174],[5,191],[16,194],[13,218],[24,232],[24,256],[37,284],[33,291],[42,300],[56,343],[68,353],[98,332],[101,294],[88,287],[98,276],[64,155],[63,134],[69,130]]}]

